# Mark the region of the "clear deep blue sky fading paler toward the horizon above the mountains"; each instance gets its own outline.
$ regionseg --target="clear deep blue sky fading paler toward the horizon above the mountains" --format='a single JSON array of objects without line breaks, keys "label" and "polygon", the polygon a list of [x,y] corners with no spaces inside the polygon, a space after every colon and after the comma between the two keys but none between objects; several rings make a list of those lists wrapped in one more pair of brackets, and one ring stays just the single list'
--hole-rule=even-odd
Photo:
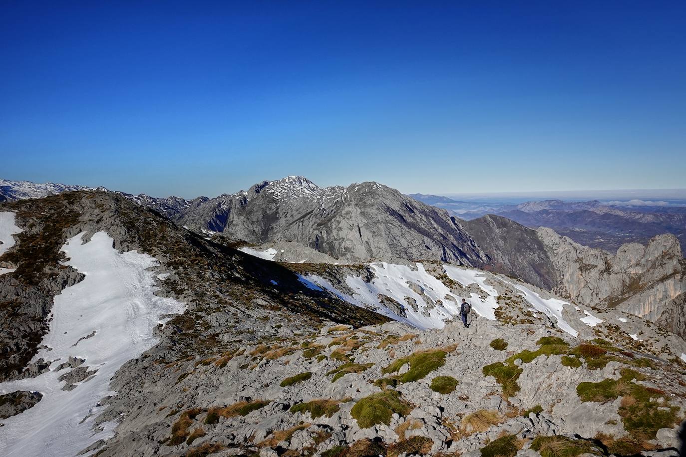
[{"label": "clear deep blue sky fading paler toward the horizon above the mountains", "polygon": [[683,188],[685,24],[684,1],[5,1],[0,177]]}]

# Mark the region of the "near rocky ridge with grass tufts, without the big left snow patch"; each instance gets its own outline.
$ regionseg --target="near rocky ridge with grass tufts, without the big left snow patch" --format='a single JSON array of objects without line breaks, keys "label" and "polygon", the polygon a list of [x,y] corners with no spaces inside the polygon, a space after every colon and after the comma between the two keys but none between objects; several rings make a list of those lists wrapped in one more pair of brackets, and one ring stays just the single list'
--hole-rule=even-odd
[{"label": "near rocky ridge with grass tufts, without the big left snow patch", "polygon": [[[60,204],[73,206],[75,219],[47,211]],[[534,457],[549,443],[571,455],[677,452],[686,343],[632,314],[567,302],[560,317],[573,336],[558,317],[534,308],[553,306],[556,297],[511,277],[440,262],[383,269],[270,262],[111,193],[67,193],[0,210],[16,212],[23,230],[0,258],[16,268],[0,275],[3,290],[25,275],[27,258],[42,255],[5,260],[23,245],[40,238],[59,252],[67,234],[104,230],[117,249],[156,256],[158,293],[187,304],[159,326],[158,344],[117,372],[111,388],[118,395],[102,399],[96,420],[114,423],[114,435],[86,454]],[[56,235],[28,232],[46,219],[59,222]],[[389,309],[386,299],[354,300],[362,293],[355,286],[372,283],[370,291],[391,288],[409,317],[406,298],[417,316],[432,304],[429,314],[438,306],[449,311],[449,295],[497,306],[475,306],[468,329],[442,314],[439,328],[421,330],[388,322],[379,314]],[[16,306],[31,304],[18,299]],[[480,314],[487,309],[493,320]],[[75,380],[88,367],[88,360],[69,360],[62,368],[73,373],[64,386],[75,386],[65,395],[79,395]]]}]

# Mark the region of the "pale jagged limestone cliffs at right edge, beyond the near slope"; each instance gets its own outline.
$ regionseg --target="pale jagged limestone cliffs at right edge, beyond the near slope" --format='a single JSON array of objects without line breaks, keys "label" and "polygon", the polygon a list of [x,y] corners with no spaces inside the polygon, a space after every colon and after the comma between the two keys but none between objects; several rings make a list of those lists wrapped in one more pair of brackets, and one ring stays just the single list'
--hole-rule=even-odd
[{"label": "pale jagged limestone cliffs at right edge, beyond the near slope", "polygon": [[624,310],[686,335],[686,261],[676,236],[655,236],[648,245],[628,243],[613,256],[548,228],[537,233],[561,275],[555,293]]}]

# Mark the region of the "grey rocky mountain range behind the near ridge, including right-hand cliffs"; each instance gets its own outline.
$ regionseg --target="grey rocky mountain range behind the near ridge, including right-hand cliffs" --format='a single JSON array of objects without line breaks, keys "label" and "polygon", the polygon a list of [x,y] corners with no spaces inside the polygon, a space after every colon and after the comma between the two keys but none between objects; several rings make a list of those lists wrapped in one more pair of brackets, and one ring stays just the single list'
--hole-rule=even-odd
[{"label": "grey rocky mountain range behind the near ridge, including right-hand cliffs", "polygon": [[[2,188],[14,186],[19,190],[3,190],[5,198],[73,188],[26,182]],[[219,234],[237,245],[247,243],[244,249],[253,253],[273,250],[273,260],[346,264],[436,260],[477,267],[517,277],[587,306],[618,306],[686,336],[686,322],[674,318],[686,301],[683,247],[671,235],[648,240],[648,249],[637,243],[622,245],[613,256],[556,231],[533,230],[503,216],[458,219],[375,182],[321,188],[301,176],[263,181],[215,198],[118,194],[194,232]],[[516,213],[569,214],[589,208],[594,208],[593,214],[609,210],[598,201],[546,200],[521,203]],[[643,214],[641,220],[652,219]],[[631,255],[622,254],[626,252]]]}]

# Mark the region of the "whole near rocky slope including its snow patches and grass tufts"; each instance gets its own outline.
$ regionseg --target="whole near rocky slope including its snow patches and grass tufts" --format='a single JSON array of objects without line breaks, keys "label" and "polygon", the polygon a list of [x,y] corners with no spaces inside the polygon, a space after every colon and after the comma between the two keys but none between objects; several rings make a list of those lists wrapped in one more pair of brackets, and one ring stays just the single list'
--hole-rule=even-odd
[{"label": "whole near rocky slope including its snow patches and grass tufts", "polygon": [[[116,193],[8,212],[0,325],[24,329],[31,357],[2,371],[3,455],[479,456],[506,439],[538,457],[551,436],[676,449],[686,342],[632,314],[447,262],[276,262]],[[475,430],[481,410],[495,419]]]}]

